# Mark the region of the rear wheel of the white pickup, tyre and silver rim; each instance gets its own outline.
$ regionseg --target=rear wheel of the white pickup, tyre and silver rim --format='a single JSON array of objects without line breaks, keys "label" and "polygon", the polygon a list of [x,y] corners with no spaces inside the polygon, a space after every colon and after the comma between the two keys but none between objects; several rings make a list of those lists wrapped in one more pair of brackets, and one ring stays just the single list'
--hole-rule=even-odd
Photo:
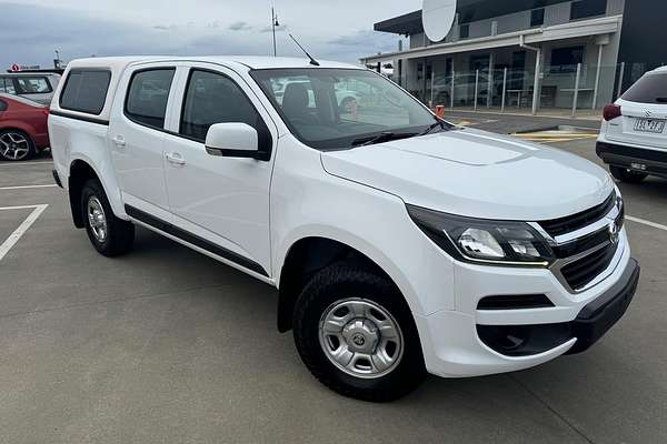
[{"label": "rear wheel of the white pickup, tyre and silver rim", "polygon": [[100,254],[113,258],[132,249],[135,225],[113,214],[102,184],[97,179],[86,182],[81,190],[81,213],[88,238]]}]

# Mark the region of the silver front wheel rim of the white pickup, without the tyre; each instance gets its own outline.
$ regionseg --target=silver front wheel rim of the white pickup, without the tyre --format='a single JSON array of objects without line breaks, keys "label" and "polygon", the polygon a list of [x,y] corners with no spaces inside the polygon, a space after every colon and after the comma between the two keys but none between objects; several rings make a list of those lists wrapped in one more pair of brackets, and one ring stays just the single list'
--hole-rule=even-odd
[{"label": "silver front wheel rim of the white pickup, without the tyre", "polygon": [[372,301],[339,301],[325,311],[319,325],[325,355],[352,376],[384,376],[396,369],[402,357],[404,339],[398,323]]}]

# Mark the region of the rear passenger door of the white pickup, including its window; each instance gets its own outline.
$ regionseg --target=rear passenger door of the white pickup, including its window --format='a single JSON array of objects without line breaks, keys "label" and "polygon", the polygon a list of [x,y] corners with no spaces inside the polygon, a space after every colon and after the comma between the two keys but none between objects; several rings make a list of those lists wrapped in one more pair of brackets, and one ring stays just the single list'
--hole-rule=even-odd
[{"label": "rear passenger door of the white pickup, including its window", "polygon": [[170,221],[165,183],[165,122],[176,65],[130,68],[120,81],[109,125],[109,149],[122,200]]}]

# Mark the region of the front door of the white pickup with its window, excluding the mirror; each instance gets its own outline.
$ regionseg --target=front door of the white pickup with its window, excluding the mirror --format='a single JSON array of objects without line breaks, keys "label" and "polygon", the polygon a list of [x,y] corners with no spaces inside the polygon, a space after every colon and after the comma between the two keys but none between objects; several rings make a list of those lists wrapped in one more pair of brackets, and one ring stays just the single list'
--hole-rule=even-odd
[{"label": "front door of the white pickup with its window, excluding the mirror", "polygon": [[213,123],[241,122],[273,151],[277,130],[257,95],[233,71],[186,68],[165,135],[166,180],[173,225],[188,241],[228,262],[269,275],[269,189],[272,159],[223,158],[205,147]]}]

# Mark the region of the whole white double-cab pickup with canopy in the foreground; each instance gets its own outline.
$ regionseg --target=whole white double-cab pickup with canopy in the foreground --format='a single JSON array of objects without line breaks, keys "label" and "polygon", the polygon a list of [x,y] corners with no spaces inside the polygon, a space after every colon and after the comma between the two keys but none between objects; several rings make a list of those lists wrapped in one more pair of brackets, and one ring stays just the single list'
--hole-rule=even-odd
[{"label": "whole white double-cab pickup with canopy in the foreground", "polygon": [[[375,107],[342,119],[341,84]],[[581,352],[639,279],[607,172],[454,127],[358,67],[77,60],[49,133],[74,225],[101,254],[128,253],[141,225],[278,287],[279,330],[348,396]]]}]

